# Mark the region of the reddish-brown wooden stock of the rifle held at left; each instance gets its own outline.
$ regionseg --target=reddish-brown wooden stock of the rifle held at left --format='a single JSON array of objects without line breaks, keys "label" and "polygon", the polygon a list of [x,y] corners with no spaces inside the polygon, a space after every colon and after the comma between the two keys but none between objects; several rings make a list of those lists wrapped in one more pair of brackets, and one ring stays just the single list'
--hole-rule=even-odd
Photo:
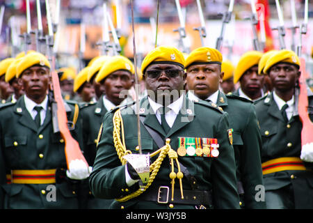
[{"label": "reddish-brown wooden stock of the rifle held at left", "polygon": [[70,168],[70,162],[72,160],[83,160],[88,167],[88,162],[85,157],[83,157],[83,153],[81,153],[81,148],[79,148],[78,142],[72,137],[70,130],[67,126],[67,116],[65,111],[65,106],[63,102],[63,98],[61,95],[61,88],[58,79],[58,74],[55,70],[51,71],[52,84],[54,88],[54,100],[57,104],[57,115],[58,115],[58,128],[61,133],[61,137],[65,142],[65,157],[67,162],[67,168]]}]

